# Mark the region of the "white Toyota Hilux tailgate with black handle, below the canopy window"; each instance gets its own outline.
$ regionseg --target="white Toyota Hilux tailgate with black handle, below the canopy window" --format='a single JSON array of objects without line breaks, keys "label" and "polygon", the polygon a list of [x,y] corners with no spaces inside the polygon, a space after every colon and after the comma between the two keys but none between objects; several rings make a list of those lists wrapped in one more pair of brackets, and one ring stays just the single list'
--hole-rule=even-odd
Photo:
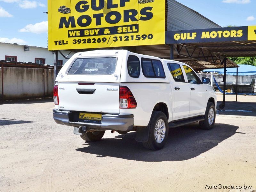
[{"label": "white Toyota Hilux tailgate with black handle, below the canopy window", "polygon": [[[83,84],[83,83],[80,83]],[[120,83],[59,83],[59,109],[119,114]]]}]

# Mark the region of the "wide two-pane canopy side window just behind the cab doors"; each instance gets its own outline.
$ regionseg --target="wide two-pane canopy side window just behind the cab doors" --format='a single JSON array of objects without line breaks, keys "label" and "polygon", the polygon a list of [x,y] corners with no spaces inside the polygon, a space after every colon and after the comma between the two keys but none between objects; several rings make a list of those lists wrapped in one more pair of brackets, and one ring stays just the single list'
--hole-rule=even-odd
[{"label": "wide two-pane canopy side window just behind the cab doors", "polygon": [[164,68],[160,60],[142,58],[141,66],[145,77],[165,78]]}]

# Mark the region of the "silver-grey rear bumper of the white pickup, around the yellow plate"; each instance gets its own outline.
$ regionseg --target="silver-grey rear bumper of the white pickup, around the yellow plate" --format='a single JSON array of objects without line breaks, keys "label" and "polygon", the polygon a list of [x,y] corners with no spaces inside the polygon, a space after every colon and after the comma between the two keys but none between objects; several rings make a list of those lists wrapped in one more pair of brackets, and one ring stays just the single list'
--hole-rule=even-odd
[{"label": "silver-grey rear bumper of the white pickup, around the yellow plate", "polygon": [[53,109],[53,119],[57,124],[68,126],[85,126],[88,128],[98,128],[102,130],[117,130],[117,131],[132,131],[133,129],[133,115],[102,115],[102,121],[100,124],[84,123],[84,122],[72,122],[72,111],[60,111]]}]

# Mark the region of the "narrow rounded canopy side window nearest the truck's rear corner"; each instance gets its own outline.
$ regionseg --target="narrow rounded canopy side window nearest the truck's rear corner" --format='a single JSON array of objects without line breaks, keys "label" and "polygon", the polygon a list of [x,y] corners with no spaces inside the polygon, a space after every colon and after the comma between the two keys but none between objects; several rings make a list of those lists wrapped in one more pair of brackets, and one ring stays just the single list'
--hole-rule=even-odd
[{"label": "narrow rounded canopy side window nearest the truck's rear corner", "polygon": [[127,61],[128,73],[131,77],[138,78],[140,76],[140,60],[135,55],[130,55]]}]

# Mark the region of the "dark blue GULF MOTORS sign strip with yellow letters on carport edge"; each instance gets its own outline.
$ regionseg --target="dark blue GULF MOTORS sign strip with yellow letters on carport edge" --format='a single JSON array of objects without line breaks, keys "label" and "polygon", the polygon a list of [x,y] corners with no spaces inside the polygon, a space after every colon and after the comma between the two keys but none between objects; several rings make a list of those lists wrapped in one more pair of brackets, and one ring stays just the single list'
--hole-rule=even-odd
[{"label": "dark blue GULF MOTORS sign strip with yellow letters on carport edge", "polygon": [[256,40],[256,26],[165,31],[165,44]]}]

